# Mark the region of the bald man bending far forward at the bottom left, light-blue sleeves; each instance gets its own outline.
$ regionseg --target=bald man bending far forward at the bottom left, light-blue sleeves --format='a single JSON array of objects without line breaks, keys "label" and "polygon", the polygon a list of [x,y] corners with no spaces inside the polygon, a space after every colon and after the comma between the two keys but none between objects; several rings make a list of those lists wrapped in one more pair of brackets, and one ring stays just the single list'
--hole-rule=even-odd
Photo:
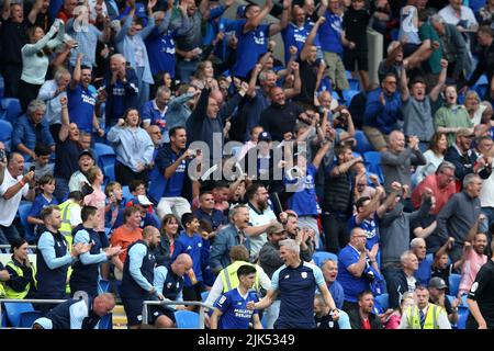
[{"label": "bald man bending far forward at the bottom left, light-blue sleeves", "polygon": [[92,301],[71,298],[37,318],[33,329],[98,329],[102,317],[115,307],[115,298],[106,293]]}]

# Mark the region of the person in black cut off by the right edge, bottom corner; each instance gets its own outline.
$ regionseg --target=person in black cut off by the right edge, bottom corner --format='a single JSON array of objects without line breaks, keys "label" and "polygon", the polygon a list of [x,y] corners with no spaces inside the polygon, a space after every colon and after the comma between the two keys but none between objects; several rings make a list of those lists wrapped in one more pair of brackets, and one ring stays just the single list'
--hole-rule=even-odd
[{"label": "person in black cut off by the right edge, bottom corner", "polygon": [[[482,265],[470,287],[469,298],[476,301],[489,329],[494,329],[494,261],[491,259]],[[474,321],[469,316],[469,325]]]}]

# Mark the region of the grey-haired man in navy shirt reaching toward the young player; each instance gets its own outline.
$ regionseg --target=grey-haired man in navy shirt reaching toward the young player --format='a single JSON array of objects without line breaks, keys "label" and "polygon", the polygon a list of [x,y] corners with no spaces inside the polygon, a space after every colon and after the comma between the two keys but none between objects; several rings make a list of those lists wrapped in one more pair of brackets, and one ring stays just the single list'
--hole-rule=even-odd
[{"label": "grey-haired man in navy shirt reaching toward the young player", "polygon": [[317,265],[303,262],[300,259],[300,246],[293,239],[280,241],[280,256],[284,265],[278,269],[271,279],[271,288],[258,303],[250,302],[250,309],[265,309],[280,293],[280,315],[274,322],[274,329],[314,329],[314,296],[318,287],[324,302],[333,313],[333,320],[338,320],[339,314],[327,290],[323,272]]}]

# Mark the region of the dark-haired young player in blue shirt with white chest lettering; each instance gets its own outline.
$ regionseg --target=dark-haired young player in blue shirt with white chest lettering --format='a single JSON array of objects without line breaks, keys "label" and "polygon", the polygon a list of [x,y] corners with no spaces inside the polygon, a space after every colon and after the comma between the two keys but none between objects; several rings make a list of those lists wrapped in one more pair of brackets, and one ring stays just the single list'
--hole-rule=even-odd
[{"label": "dark-haired young player in blue shirt with white chest lettering", "polygon": [[240,285],[223,294],[214,304],[211,329],[248,329],[250,321],[255,329],[262,329],[258,312],[247,308],[249,302],[259,302],[252,290],[256,268],[244,264],[238,269],[237,276]]}]

